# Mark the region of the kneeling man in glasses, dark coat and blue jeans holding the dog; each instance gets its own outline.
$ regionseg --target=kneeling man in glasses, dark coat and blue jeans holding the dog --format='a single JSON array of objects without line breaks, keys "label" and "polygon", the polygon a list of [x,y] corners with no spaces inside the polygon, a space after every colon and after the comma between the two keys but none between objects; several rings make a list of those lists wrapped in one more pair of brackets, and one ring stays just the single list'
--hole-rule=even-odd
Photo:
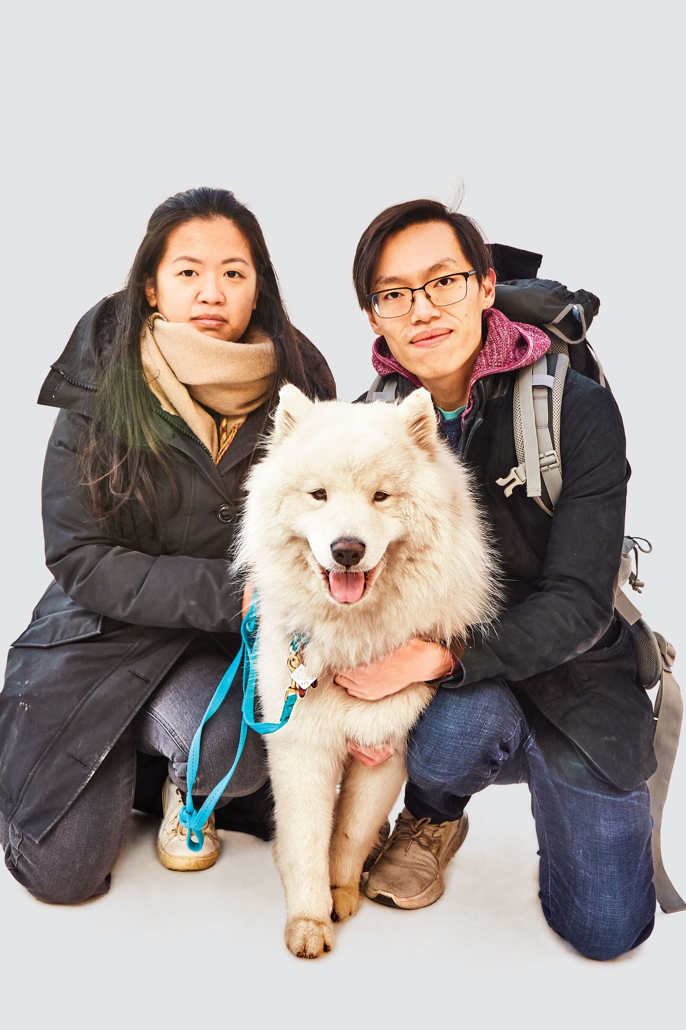
[{"label": "kneeling man in glasses, dark coat and blue jeans holding the dog", "polygon": [[[516,370],[549,340],[494,309],[491,266],[475,225],[426,200],[382,212],[355,256],[376,371],[397,374],[399,397],[430,390],[440,431],[474,472],[506,593],[490,632],[473,630],[452,651],[410,641],[336,678],[370,700],[417,680],[437,688],[410,736],[405,808],[366,893],[400,908],[437,900],[470,795],[526,780],[545,918],[581,954],[610,959],[649,936],[655,911],[652,709],[613,612],[629,475],[623,427],[609,390],[568,372],[553,517],[523,489],[505,495],[496,480],[517,465]],[[389,757],[351,750],[366,765]]]}]

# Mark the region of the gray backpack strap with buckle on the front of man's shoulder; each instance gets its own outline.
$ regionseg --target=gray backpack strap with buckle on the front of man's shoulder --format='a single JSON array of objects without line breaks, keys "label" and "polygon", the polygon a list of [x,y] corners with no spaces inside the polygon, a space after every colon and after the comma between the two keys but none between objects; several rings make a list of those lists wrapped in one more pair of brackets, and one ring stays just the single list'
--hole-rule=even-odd
[{"label": "gray backpack strap with buckle on the front of man's shoulder", "polygon": [[548,515],[552,511],[541,499],[541,480],[554,508],[563,487],[559,434],[568,368],[568,355],[557,353],[544,355],[517,373],[513,416],[518,465],[509,476],[496,480],[508,497],[515,486],[526,484],[527,496],[534,497]]}]

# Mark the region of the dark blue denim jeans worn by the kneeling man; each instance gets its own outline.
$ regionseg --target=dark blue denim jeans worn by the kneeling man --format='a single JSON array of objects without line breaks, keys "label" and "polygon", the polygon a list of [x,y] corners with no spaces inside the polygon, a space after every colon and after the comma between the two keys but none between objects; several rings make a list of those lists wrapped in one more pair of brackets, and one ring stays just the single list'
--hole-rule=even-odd
[{"label": "dark blue denim jeans worn by the kneeling man", "polygon": [[642,943],[655,921],[647,786],[621,791],[594,776],[504,680],[438,690],[407,746],[411,815],[458,819],[471,794],[489,784],[523,781],[548,925],[592,959],[616,958]]}]

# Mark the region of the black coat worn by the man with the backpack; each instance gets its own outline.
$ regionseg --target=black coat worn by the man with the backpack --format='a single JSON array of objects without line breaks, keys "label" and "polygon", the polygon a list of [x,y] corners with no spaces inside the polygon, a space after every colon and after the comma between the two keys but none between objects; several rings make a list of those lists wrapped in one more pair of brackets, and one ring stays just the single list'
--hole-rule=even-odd
[{"label": "black coat worn by the man with the backpack", "polygon": [[[495,632],[473,633],[445,686],[503,677],[622,790],[655,770],[652,705],[638,681],[626,624],[613,622],[629,468],[608,389],[567,374],[561,418],[563,489],[550,518],[523,487],[496,480],[517,466],[516,372],[477,380],[460,440],[493,527],[506,588]],[[416,389],[399,377],[398,394]],[[603,639],[605,638],[605,639]],[[604,646],[608,638],[609,646]]]}]

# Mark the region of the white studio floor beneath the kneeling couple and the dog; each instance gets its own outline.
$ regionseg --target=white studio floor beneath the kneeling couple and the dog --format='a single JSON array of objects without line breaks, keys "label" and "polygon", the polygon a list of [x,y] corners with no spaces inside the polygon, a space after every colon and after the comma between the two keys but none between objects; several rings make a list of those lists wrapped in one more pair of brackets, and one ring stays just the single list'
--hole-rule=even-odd
[{"label": "white studio floor beneath the kneeling couple and the dog", "polygon": [[[685,771],[682,754],[664,832],[682,894]],[[0,1026],[683,1025],[686,913],[658,912],[630,955],[582,959],[539,908],[527,787],[493,787],[469,813],[437,904],[404,913],[364,899],[316,962],[283,943],[270,845],[240,833],[220,832],[214,868],[174,873],[156,859],[156,820],[134,814],[111,891],[75,907],[34,900],[0,868]]]}]

